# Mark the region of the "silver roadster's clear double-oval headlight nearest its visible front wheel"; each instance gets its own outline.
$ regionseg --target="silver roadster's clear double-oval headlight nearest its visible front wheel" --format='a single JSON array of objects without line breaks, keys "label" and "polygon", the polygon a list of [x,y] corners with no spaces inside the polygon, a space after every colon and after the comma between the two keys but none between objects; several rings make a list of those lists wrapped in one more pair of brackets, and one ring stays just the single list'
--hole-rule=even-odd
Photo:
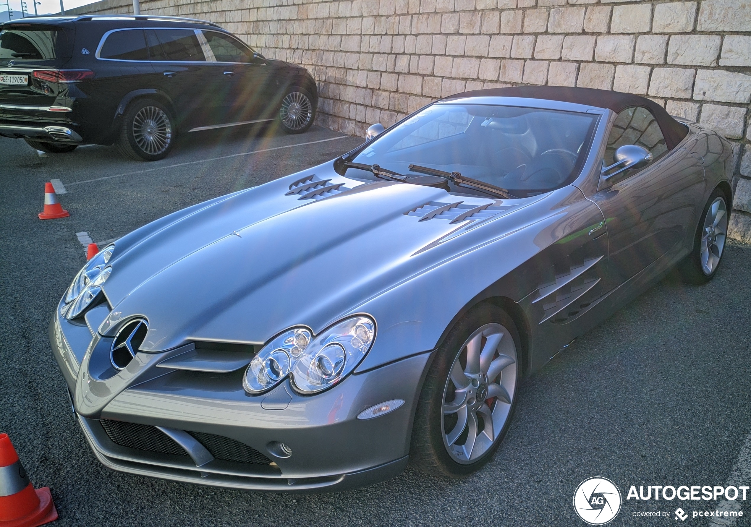
[{"label": "silver roadster's clear double-oval headlight nearest its visible front wheel", "polygon": [[277,336],[258,352],[243,377],[249,393],[261,393],[291,375],[300,393],[315,393],[345,378],[372,347],[375,322],[358,315],[313,337],[297,327]]}]

